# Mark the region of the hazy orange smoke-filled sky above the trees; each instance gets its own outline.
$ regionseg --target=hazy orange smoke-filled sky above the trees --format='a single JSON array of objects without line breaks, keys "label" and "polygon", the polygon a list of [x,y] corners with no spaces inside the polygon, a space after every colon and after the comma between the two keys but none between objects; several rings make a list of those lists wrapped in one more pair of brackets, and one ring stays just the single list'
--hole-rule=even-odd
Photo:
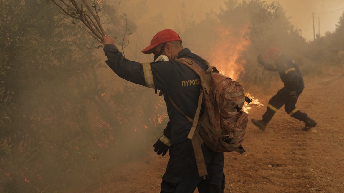
[{"label": "hazy orange smoke-filled sky above the trees", "polygon": [[[241,2],[240,0],[238,0]],[[265,0],[267,3],[275,1],[285,10],[290,22],[302,30],[302,36],[307,40],[313,39],[313,12],[314,28],[317,34],[320,26],[320,34],[332,32],[338,23],[344,9],[343,0]],[[154,23],[153,20],[159,21],[163,16],[162,23],[156,23],[155,27],[160,29],[174,29],[176,23],[181,19],[182,13],[191,17],[197,22],[206,17],[206,13],[218,13],[221,8],[225,9],[226,0],[126,0],[119,7],[120,12],[126,12],[130,19],[137,21],[138,30],[146,22]],[[341,9],[341,10],[338,10]],[[335,11],[338,10],[338,11]],[[333,11],[333,12],[332,12]],[[160,16],[158,14],[161,14]],[[160,18],[159,18],[160,17]],[[235,18],[233,18],[235,19]],[[319,25],[320,21],[320,25]],[[153,28],[155,28],[153,27]],[[160,30],[157,29],[157,30]]]}]

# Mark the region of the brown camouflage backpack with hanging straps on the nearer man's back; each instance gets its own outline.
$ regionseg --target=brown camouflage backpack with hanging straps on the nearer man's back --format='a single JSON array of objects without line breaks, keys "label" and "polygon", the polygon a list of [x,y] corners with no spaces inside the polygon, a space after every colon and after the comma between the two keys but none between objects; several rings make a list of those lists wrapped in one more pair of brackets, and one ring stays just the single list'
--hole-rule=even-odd
[{"label": "brown camouflage backpack with hanging straps on the nearer man's back", "polygon": [[[246,99],[245,91],[239,82],[220,74],[206,60],[206,71],[189,58],[178,58],[177,61],[201,77],[202,90],[194,119],[187,117],[172,100],[171,102],[193,123],[188,138],[192,140],[198,173],[206,179],[207,170],[201,149],[203,142],[215,152],[245,152],[241,146],[248,122],[247,113],[241,111]],[[205,111],[199,118],[202,103]]]}]

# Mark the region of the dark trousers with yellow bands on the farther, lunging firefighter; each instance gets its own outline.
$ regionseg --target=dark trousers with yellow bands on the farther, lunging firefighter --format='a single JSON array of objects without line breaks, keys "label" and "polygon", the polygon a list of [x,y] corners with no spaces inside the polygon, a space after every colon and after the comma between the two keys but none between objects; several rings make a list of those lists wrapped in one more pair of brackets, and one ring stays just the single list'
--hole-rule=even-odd
[{"label": "dark trousers with yellow bands on the farther, lunging firefighter", "polygon": [[[297,99],[302,93],[303,88],[298,88],[296,90]],[[284,110],[293,118],[303,121],[307,117],[306,113],[301,112],[298,108],[295,107],[297,99],[294,101],[289,100],[289,89],[283,87],[277,92],[269,101],[266,112],[264,113],[263,122],[269,123],[273,115],[284,105]]]}]

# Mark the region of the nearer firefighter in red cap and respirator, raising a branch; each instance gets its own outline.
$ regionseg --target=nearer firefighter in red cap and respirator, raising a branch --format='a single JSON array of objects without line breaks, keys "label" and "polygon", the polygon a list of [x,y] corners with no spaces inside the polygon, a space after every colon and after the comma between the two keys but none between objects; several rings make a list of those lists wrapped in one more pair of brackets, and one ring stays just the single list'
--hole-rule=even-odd
[{"label": "nearer firefighter in red cap and respirator, raising a branch", "polygon": [[[106,64],[121,78],[145,87],[163,91],[169,115],[169,123],[164,135],[154,144],[159,155],[169,150],[169,162],[162,177],[161,193],[222,193],[225,185],[223,173],[224,158],[222,152],[214,152],[202,145],[208,177],[203,180],[198,174],[192,142],[187,138],[192,123],[186,118],[194,117],[200,96],[200,77],[189,67],[175,59],[186,57],[207,69],[205,61],[183,48],[182,39],[173,30],[158,32],[151,44],[141,52],[154,54],[152,63],[138,63],[122,56],[114,44],[114,39],[103,38]],[[170,101],[171,99],[171,101]],[[182,112],[172,104],[180,108]],[[202,112],[204,107],[202,107]]]}]

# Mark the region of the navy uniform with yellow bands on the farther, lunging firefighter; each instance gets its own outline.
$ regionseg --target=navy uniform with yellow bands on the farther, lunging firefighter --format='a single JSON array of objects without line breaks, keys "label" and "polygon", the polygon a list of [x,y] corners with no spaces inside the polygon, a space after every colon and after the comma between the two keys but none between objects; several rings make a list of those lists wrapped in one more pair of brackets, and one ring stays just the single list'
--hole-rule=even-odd
[{"label": "navy uniform with yellow bands on the farther, lunging firefighter", "polygon": [[269,123],[272,116],[284,105],[284,110],[291,116],[300,121],[307,117],[306,113],[301,112],[295,107],[296,100],[289,99],[289,92],[295,91],[297,98],[302,93],[304,88],[302,74],[299,67],[292,59],[286,55],[281,54],[275,66],[271,64],[264,64],[264,68],[269,71],[278,71],[284,87],[272,96],[269,101],[266,112],[264,113],[263,122]]}]

